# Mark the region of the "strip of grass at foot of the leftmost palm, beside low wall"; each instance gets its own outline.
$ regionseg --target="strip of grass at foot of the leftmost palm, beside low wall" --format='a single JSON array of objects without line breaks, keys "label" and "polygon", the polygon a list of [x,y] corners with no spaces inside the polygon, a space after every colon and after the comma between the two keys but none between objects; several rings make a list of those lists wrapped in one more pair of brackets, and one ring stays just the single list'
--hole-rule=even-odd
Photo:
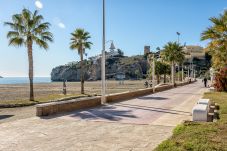
[{"label": "strip of grass at foot of the leftmost palm, beside low wall", "polygon": [[39,103],[47,103],[47,102],[53,102],[53,101],[62,101],[64,99],[69,98],[81,98],[81,97],[88,97],[88,95],[85,94],[51,94],[45,97],[36,97],[35,101],[29,101],[29,100],[3,100],[0,101],[0,107],[19,107],[19,106],[29,106],[29,105],[35,105]]}]

